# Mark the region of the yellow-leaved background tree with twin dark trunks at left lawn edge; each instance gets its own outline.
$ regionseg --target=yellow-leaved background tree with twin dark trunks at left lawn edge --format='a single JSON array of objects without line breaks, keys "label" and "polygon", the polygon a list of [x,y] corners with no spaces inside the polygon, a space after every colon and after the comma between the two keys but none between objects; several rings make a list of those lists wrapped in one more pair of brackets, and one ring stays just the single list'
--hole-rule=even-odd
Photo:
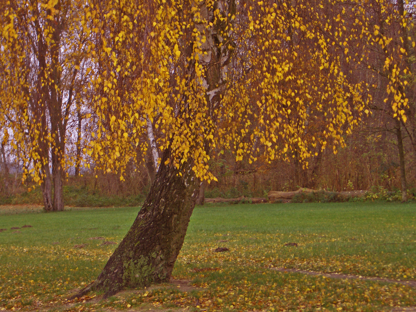
[{"label": "yellow-leaved background tree with twin dark trunks at left lawn edge", "polygon": [[22,159],[23,179],[40,183],[45,210],[63,210],[67,128],[88,87],[91,13],[72,0],[2,1],[0,10],[0,127]]}]

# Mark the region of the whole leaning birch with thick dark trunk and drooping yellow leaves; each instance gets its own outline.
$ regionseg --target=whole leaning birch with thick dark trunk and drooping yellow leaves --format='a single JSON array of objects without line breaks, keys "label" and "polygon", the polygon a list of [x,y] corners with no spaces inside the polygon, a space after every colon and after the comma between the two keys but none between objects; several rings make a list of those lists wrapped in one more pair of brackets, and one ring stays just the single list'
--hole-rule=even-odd
[{"label": "whole leaning birch with thick dark trunk and drooping yellow leaves", "polygon": [[[322,21],[310,17],[318,3],[100,2],[97,127],[86,152],[121,180],[127,162],[153,150],[152,132],[163,156],[131,229],[78,297],[170,279],[201,182],[216,181],[214,147],[236,161],[286,159],[290,150],[306,161],[317,141],[334,151],[344,144],[364,110],[362,82],[351,83],[330,54]],[[304,126],[318,114],[322,133],[309,140]]]}]

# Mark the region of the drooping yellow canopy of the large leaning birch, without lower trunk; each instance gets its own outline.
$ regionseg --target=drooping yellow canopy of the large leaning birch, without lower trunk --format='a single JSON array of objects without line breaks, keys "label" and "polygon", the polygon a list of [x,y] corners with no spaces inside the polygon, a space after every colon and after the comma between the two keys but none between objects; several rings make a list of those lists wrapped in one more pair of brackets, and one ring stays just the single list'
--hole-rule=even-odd
[{"label": "drooping yellow canopy of the large leaning birch, without lower trunk", "polygon": [[170,161],[192,159],[208,181],[209,146],[237,160],[296,152],[307,161],[318,145],[343,146],[369,100],[348,49],[322,29],[334,5],[105,3],[93,11],[97,123],[87,152],[106,171],[142,158],[148,118]]}]

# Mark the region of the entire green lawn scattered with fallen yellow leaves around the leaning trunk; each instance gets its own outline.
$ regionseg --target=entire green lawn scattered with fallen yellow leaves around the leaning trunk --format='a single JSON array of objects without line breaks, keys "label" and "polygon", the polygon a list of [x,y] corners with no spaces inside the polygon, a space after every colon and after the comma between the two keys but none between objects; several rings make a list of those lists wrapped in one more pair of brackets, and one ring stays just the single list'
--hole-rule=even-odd
[{"label": "entire green lawn scattered with fallen yellow leaves around the leaning trunk", "polygon": [[[416,306],[416,289],[409,286],[273,270],[416,280],[415,204],[197,207],[173,271],[174,278],[198,286],[193,291],[162,285],[71,304],[68,294],[94,280],[116,247],[102,243],[120,242],[139,208],[0,211],[0,228],[7,229],[0,232],[0,310],[99,311],[144,304],[146,310],[391,311]],[[104,240],[89,239],[97,237]],[[215,253],[218,247],[229,251]]]}]

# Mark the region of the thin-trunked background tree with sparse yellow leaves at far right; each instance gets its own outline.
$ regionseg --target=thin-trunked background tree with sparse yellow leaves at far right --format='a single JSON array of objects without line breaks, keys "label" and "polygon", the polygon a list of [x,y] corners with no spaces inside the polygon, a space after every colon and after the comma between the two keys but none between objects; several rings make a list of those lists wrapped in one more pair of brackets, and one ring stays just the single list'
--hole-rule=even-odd
[{"label": "thin-trunked background tree with sparse yellow leaves at far right", "polygon": [[[412,8],[408,2],[407,5]],[[346,62],[352,63],[349,74],[363,72],[366,76],[364,89],[374,97],[367,102],[368,107],[388,117],[379,129],[396,136],[403,201],[407,200],[404,133],[411,133],[409,128],[413,128],[414,119],[414,86],[408,81],[412,72],[409,57],[414,55],[415,46],[414,24],[405,9],[406,3],[402,0],[332,5],[333,18],[325,25],[328,39],[344,49]],[[367,109],[366,113],[370,111]]]}]

